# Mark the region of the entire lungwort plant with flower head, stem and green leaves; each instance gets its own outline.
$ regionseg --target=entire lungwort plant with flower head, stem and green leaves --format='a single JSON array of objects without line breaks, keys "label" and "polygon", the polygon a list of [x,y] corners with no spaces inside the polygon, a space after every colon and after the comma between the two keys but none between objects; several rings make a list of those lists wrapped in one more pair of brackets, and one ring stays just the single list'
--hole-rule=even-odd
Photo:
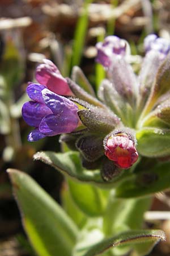
[{"label": "entire lungwort plant with flower head, stem and green leaves", "polygon": [[[162,230],[145,229],[152,195],[170,187],[170,44],[144,42],[138,74],[117,36],[97,43],[105,68],[97,94],[78,68],[63,78],[50,60],[36,69],[23,105],[28,141],[61,134],[62,152],[35,160],[66,177],[59,206],[28,175],[9,170],[23,225],[40,256],[146,255]],[[55,143],[55,139],[54,139]]]}]

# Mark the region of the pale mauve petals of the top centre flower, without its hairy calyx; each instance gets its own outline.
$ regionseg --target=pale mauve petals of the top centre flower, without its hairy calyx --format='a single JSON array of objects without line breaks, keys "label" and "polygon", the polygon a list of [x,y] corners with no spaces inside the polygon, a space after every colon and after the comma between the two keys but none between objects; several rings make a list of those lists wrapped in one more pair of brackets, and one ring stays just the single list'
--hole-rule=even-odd
[{"label": "pale mauve petals of the top centre flower, without its hairy calyx", "polygon": [[124,57],[126,55],[127,42],[117,36],[107,36],[104,42],[97,43],[96,61],[108,68],[112,64],[114,57]]}]

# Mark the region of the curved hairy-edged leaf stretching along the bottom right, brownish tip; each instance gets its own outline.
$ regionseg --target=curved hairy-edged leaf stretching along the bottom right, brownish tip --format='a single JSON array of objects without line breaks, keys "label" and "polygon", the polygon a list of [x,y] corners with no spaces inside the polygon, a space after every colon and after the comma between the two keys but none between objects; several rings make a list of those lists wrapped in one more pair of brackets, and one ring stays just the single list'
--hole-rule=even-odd
[{"label": "curved hairy-edged leaf stretching along the bottom right, brownish tip", "polygon": [[[145,243],[150,245],[145,253],[149,253],[152,247],[159,241],[165,240],[165,234],[162,230],[135,230],[127,231],[118,234],[118,236],[111,237],[101,242],[96,243],[93,246],[87,246],[80,248],[74,253],[74,256],[95,256],[104,253],[105,251],[116,246],[131,246]],[[149,244],[150,242],[150,244]],[[143,254],[140,254],[143,255]]]}]

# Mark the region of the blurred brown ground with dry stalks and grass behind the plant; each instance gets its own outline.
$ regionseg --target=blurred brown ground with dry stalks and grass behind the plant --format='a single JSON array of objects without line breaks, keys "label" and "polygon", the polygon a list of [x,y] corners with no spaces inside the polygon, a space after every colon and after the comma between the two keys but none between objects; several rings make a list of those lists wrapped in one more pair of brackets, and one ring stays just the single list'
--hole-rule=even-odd
[{"label": "blurred brown ground with dry stalks and grass behind the plant", "polygon": [[[89,2],[87,15],[84,15]],[[80,19],[83,15],[85,21]],[[28,143],[30,128],[21,117],[22,104],[27,101],[25,88],[28,81],[35,81],[37,64],[46,57],[65,77],[70,76],[74,65],[80,65],[96,88],[99,82],[96,79],[96,42],[106,35],[120,36],[128,40],[137,57],[143,55],[143,38],[150,32],[170,40],[170,1],[0,0],[1,256],[35,255],[22,228],[6,174],[8,167],[27,172],[61,203],[62,175],[32,160],[38,150],[59,151],[58,138]],[[156,196],[152,210],[170,213],[169,196],[170,193]],[[161,228],[167,234],[167,242],[156,246],[150,255],[169,256],[170,217],[169,220],[147,221],[146,225]]]}]

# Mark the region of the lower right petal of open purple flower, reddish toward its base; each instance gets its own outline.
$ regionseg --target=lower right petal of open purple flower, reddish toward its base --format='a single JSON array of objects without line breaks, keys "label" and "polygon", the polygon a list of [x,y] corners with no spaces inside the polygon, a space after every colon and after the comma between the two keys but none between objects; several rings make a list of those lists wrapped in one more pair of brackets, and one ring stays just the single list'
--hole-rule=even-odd
[{"label": "lower right petal of open purple flower, reddish toward its base", "polygon": [[71,133],[78,126],[78,118],[70,115],[46,115],[39,125],[39,130],[46,136],[54,136],[62,133]]}]

